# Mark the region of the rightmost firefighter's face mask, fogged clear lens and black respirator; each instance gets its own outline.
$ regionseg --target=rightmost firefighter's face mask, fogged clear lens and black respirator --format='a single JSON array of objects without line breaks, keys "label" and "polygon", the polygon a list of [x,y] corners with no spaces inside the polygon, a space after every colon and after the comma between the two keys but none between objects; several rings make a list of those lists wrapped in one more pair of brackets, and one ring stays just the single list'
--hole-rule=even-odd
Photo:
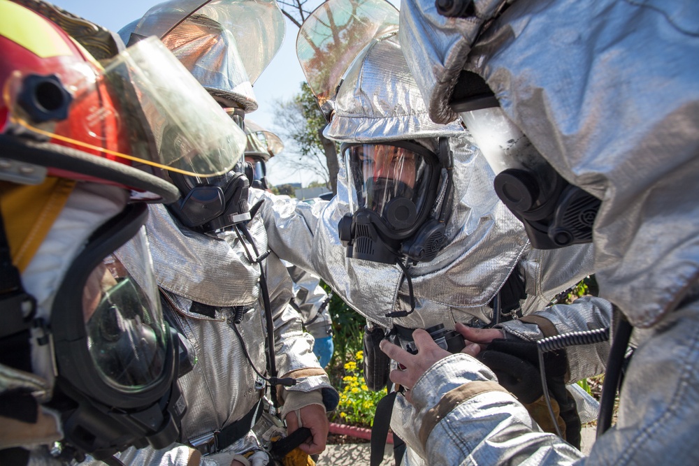
[{"label": "rightmost firefighter's face mask, fogged clear lens and black respirator", "polygon": [[492,92],[483,89],[487,85],[480,76],[463,72],[454,92],[459,97],[450,105],[496,174],[498,197],[524,223],[532,246],[556,249],[591,242],[600,200],[556,173]]}]

